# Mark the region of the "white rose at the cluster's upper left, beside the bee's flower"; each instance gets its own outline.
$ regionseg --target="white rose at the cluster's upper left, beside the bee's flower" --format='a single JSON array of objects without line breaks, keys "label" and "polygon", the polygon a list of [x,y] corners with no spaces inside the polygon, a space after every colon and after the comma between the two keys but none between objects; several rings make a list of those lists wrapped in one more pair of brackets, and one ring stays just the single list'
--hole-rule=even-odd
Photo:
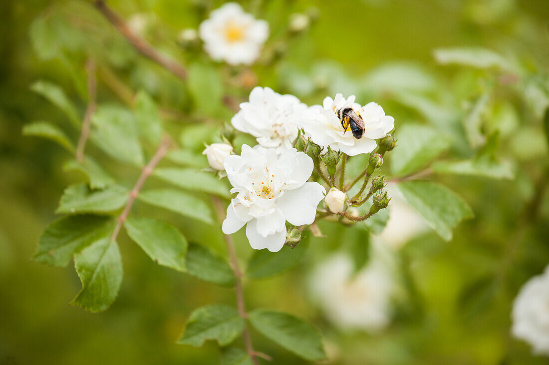
[{"label": "white rose at the cluster's upper left, beside the bee's flower", "polygon": [[255,87],[249,101],[240,104],[231,123],[240,132],[253,135],[262,147],[281,153],[292,148],[299,120],[306,110],[307,105],[293,95]]}]

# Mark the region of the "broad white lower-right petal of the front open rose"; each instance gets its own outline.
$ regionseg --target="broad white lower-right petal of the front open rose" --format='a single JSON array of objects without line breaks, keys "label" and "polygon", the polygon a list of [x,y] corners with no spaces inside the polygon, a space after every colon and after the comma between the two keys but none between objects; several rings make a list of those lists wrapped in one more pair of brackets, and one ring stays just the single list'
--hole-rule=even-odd
[{"label": "broad white lower-right petal of the front open rose", "polygon": [[284,218],[295,226],[315,221],[316,207],[324,198],[326,189],[315,181],[309,181],[299,189],[290,190],[277,199],[277,208]]}]

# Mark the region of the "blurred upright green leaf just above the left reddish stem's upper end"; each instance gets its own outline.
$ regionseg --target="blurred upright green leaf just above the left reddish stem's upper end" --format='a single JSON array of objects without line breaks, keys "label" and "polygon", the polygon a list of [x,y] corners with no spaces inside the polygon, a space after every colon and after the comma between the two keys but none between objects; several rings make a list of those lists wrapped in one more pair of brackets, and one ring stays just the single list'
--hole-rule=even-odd
[{"label": "blurred upright green leaf just above the left reddish stem's upper end", "polygon": [[144,91],[140,91],[136,95],[135,116],[141,138],[153,146],[158,146],[162,138],[162,125],[158,108],[154,100]]}]

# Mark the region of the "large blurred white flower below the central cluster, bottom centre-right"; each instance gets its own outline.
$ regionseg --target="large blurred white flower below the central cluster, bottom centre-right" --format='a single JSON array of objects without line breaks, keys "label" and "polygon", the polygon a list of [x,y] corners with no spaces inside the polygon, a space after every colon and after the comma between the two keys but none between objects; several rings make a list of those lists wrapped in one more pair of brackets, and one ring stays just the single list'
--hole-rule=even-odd
[{"label": "large blurred white flower below the central cluster, bottom centre-right", "polygon": [[327,318],[341,329],[375,331],[391,319],[394,278],[374,256],[358,273],[351,258],[332,256],[313,272],[310,289]]}]

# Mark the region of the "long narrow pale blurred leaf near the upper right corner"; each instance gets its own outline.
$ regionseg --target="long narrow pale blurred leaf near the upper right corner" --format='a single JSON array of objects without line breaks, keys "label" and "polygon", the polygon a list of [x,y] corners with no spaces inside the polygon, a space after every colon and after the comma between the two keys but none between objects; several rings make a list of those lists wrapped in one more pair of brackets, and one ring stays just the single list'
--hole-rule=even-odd
[{"label": "long narrow pale blurred leaf near the upper right corner", "polygon": [[477,69],[517,72],[517,68],[502,55],[481,47],[440,48],[435,50],[434,56],[442,65],[457,64]]}]

